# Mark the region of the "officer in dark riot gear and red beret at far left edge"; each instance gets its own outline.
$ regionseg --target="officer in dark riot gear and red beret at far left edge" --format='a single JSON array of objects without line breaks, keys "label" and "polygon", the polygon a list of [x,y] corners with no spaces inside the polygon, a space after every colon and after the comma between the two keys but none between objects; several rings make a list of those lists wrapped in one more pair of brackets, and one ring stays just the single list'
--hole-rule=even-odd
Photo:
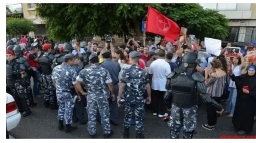
[{"label": "officer in dark riot gear and red beret at far left edge", "polygon": [[24,111],[22,116],[29,116],[31,114],[30,99],[24,91],[26,85],[26,79],[24,78],[26,67],[24,64],[16,62],[14,53],[10,50],[6,50],[6,60],[8,60],[8,64],[6,64],[7,85],[12,90],[13,98],[16,99],[19,110]]}]

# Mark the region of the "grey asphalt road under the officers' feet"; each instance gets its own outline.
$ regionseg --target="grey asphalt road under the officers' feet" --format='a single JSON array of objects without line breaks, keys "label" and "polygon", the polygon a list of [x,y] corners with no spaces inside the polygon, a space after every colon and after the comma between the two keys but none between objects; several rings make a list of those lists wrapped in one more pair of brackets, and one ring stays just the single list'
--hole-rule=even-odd
[{"label": "grey asphalt road under the officers' feet", "polygon": [[[20,120],[19,125],[10,131],[10,134],[15,138],[90,138],[87,131],[86,124],[72,123],[79,129],[72,133],[65,133],[65,131],[58,130],[57,110],[45,108],[43,105],[43,98],[35,99],[37,106],[31,108],[32,114]],[[86,113],[86,109],[84,109]],[[123,121],[123,112],[121,118]],[[193,138],[219,138],[221,135],[237,135],[232,126],[232,119],[227,119],[226,115],[218,118],[218,123],[215,130],[209,131],[201,127],[202,124],[207,123],[207,114],[205,106],[198,109],[197,116],[197,134]],[[87,114],[86,114],[87,115]],[[111,125],[114,134],[111,138],[123,138],[123,126]],[[170,129],[167,122],[163,122],[160,118],[153,116],[152,111],[148,110],[144,120],[144,135],[145,138],[169,138]],[[103,138],[101,125],[97,123],[97,138]],[[256,126],[251,135],[256,135]],[[135,127],[131,126],[130,138],[136,137]],[[182,134],[180,134],[182,138]]]}]

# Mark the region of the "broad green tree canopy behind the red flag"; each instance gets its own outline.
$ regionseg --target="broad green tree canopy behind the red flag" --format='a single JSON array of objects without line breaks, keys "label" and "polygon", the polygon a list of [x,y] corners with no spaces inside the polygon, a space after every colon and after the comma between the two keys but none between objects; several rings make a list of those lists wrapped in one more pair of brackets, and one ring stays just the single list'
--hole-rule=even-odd
[{"label": "broad green tree canopy behind the red flag", "polygon": [[195,3],[37,3],[36,10],[37,16],[45,21],[50,38],[68,41],[75,35],[77,38],[107,33],[139,36],[148,5],[187,27],[197,37],[227,36],[225,17]]}]

